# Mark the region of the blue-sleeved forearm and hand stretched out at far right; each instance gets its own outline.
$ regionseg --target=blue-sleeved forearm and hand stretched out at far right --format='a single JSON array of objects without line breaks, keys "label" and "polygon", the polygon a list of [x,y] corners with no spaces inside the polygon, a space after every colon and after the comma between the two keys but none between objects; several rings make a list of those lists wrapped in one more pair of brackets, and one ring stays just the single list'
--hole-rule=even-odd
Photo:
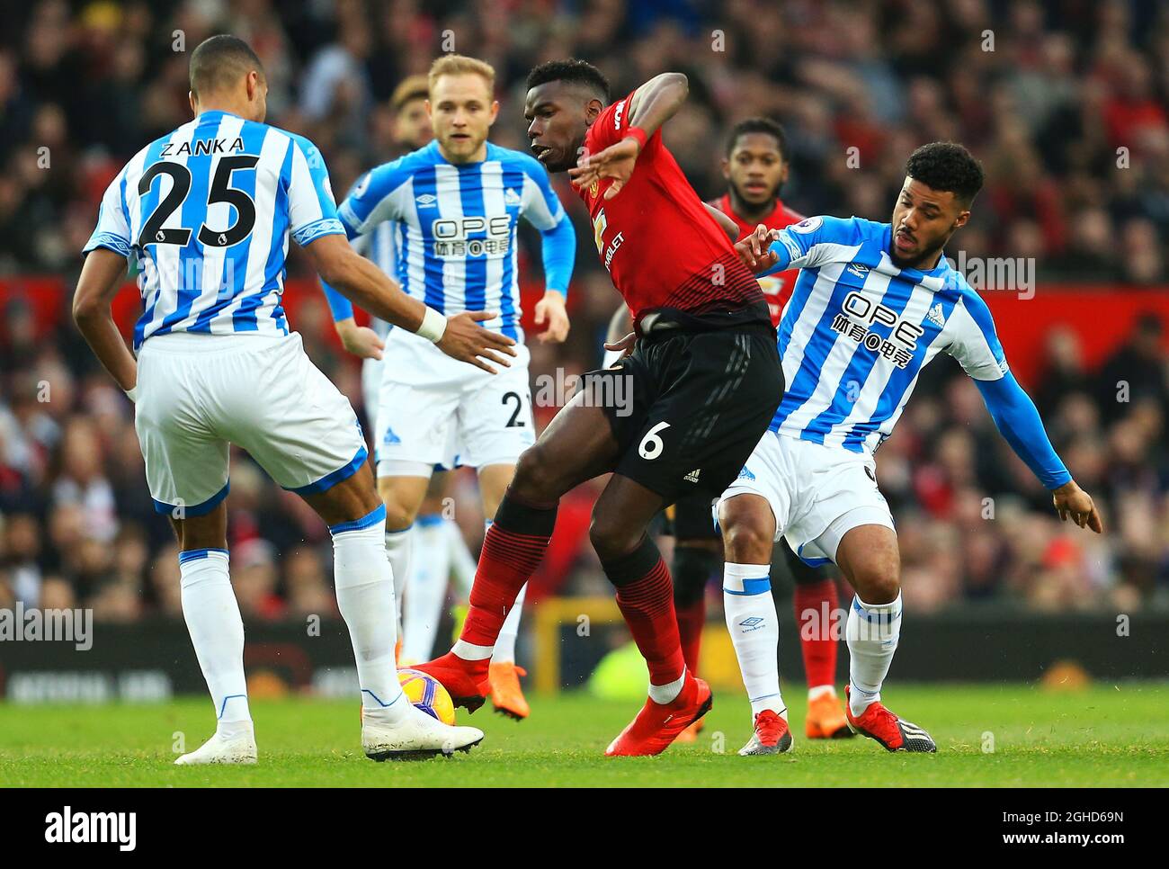
[{"label": "blue-sleeved forearm and hand stretched out at far right", "polygon": [[997,380],[975,380],[991,419],[1016,455],[1051,490],[1052,503],[1061,522],[1072,519],[1098,534],[1104,523],[1092,496],[1077,485],[1047,439],[1043,420],[1031,396],[1008,372]]}]

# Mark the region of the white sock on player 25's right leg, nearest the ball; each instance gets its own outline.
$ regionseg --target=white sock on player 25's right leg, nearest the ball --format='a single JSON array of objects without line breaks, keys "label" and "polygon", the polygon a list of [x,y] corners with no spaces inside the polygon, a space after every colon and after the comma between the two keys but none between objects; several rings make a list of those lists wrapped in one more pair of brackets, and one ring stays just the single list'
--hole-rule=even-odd
[{"label": "white sock on player 25's right leg, nearest the ball", "polygon": [[328,530],[333,534],[337,607],[353,642],[361,705],[381,710],[379,717],[392,720],[404,715],[408,704],[397,703],[402,687],[394,661],[397,620],[394,580],[386,558],[386,508]]}]

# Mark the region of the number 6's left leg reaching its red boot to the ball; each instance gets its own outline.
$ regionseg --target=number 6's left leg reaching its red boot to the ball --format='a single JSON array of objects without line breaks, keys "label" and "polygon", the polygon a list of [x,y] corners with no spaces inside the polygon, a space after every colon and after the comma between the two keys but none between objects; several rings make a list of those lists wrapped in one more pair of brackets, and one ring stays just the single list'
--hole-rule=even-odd
[{"label": "number 6's left leg reaching its red boot to the ball", "polygon": [[565,492],[611,470],[617,457],[606,412],[577,393],[516,465],[516,476],[487,529],[462,634],[445,655],[415,669],[429,673],[457,706],[473,712],[491,690],[489,664],[504,620],[552,539]]}]

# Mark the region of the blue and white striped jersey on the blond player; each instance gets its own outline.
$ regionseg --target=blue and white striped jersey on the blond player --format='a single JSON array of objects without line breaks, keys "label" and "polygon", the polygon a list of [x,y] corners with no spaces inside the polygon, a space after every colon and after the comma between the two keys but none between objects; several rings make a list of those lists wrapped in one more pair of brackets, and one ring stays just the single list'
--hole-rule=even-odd
[{"label": "blue and white striped jersey on the blond player", "polygon": [[[521,339],[519,219],[544,234],[546,287],[566,296],[575,233],[538,160],[486,149],[482,163],[451,164],[431,142],[362,175],[338,214],[350,239],[373,235],[371,258],[393,257],[387,271],[407,294],[447,315],[497,311],[482,325]],[[326,295],[334,318],[352,316],[336,291]]]}]

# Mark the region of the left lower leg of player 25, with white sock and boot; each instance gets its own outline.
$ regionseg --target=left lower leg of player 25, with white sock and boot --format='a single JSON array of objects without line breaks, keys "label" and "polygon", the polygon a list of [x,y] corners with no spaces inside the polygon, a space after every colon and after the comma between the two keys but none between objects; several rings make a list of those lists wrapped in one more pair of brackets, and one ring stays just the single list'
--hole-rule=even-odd
[{"label": "left lower leg of player 25, with white sock and boot", "polygon": [[171,516],[179,540],[182,618],[215,708],[215,733],[179,766],[256,763],[256,736],[243,673],[243,619],[231,588],[227,502],[203,516]]}]

